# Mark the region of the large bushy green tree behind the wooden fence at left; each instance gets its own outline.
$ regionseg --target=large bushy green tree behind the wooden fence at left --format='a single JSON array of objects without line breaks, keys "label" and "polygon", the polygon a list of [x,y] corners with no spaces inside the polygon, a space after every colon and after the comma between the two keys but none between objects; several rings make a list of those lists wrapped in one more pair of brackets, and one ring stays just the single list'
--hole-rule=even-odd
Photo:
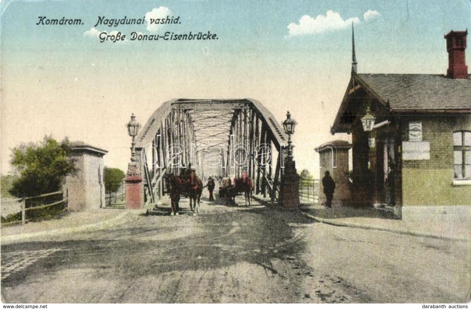
[{"label": "large bushy green tree behind the wooden fence at left", "polygon": [[50,136],[41,143],[13,148],[10,164],[19,177],[9,193],[20,198],[60,190],[65,176],[77,172],[71,152],[67,138],[58,143]]}]

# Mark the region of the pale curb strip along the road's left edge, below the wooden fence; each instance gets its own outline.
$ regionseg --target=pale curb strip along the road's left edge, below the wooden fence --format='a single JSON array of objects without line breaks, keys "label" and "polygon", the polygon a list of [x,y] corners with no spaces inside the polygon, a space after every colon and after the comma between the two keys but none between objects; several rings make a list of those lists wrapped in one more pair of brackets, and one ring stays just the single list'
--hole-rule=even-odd
[{"label": "pale curb strip along the road's left edge, below the wooden fence", "polygon": [[6,245],[10,243],[21,242],[28,238],[36,238],[36,237],[46,238],[46,237],[54,237],[58,234],[63,235],[66,233],[76,233],[76,232],[83,232],[83,231],[96,230],[96,229],[102,230],[102,229],[110,228],[115,225],[121,224],[123,222],[129,221],[130,218],[122,220],[122,218],[126,216],[127,214],[129,214],[129,212],[123,212],[121,214],[118,214],[112,219],[108,219],[108,220],[97,222],[97,223],[91,223],[87,225],[75,226],[75,227],[70,227],[70,228],[58,228],[54,230],[45,230],[41,232],[24,233],[24,234],[18,234],[18,235],[9,235],[5,237],[1,237],[0,240],[1,240],[2,245]]}]

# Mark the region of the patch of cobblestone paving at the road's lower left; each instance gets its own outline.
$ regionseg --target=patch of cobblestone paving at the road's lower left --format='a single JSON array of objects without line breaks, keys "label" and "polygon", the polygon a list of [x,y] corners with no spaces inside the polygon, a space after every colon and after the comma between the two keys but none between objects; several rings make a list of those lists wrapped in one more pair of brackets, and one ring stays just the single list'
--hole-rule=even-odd
[{"label": "patch of cobblestone paving at the road's lower left", "polygon": [[1,280],[10,277],[11,274],[21,271],[39,259],[62,250],[62,247],[36,251],[16,251],[1,254]]}]

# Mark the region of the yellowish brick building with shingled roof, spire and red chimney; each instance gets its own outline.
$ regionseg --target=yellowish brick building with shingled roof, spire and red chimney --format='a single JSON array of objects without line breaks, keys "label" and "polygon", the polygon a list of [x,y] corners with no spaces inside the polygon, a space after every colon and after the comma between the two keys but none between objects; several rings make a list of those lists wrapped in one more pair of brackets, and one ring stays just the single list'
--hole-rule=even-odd
[{"label": "yellowish brick building with shingled roof, spire and red chimney", "polygon": [[[351,78],[331,133],[352,136],[354,203],[395,206],[403,217],[470,219],[466,36],[467,31],[445,35],[445,76],[358,74],[353,45]],[[374,117],[371,131],[362,125],[365,115]]]}]

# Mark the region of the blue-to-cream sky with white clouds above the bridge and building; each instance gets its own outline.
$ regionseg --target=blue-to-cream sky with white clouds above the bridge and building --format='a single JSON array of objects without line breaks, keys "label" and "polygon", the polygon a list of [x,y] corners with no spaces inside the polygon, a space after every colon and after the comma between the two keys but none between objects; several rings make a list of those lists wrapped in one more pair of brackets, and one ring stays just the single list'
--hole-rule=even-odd
[{"label": "blue-to-cream sky with white clouds above the bridge and building", "polygon": [[[471,0],[1,0],[0,8],[2,174],[13,147],[44,135],[105,149],[106,166],[125,171],[131,113],[144,125],[174,98],[253,98],[280,123],[290,111],[297,168],[318,177],[313,155],[301,152],[348,139],[330,126],[350,78],[352,23],[358,73],[446,74],[444,34],[471,29]],[[152,23],[167,16],[178,24]],[[81,21],[48,24],[63,17]],[[109,25],[124,17],[143,23]],[[101,32],[126,38],[100,42]],[[217,40],[131,41],[131,32]]]}]

